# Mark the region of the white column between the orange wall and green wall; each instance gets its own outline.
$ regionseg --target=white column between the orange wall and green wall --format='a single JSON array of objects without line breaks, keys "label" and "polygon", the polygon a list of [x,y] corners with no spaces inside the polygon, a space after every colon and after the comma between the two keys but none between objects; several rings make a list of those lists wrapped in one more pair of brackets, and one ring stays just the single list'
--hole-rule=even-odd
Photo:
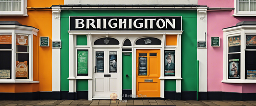
[{"label": "white column between the orange wall and green wall", "polygon": [[[52,41],[61,41],[61,7],[52,7]],[[52,91],[61,91],[61,49],[52,49]]]}]

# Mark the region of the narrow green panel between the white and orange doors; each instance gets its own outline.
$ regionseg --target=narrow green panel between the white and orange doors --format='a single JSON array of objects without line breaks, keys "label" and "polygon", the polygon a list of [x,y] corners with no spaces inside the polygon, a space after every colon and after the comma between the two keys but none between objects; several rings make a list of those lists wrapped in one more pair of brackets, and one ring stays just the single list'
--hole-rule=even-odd
[{"label": "narrow green panel between the white and orange doors", "polygon": [[[128,74],[128,77],[125,75]],[[122,89],[132,89],[132,53],[122,53]]]}]

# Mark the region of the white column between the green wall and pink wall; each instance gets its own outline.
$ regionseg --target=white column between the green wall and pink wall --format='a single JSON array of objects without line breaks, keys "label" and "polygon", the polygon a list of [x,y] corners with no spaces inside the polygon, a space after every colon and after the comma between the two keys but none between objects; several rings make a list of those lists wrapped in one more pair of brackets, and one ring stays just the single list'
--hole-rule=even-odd
[{"label": "white column between the green wall and pink wall", "polygon": [[[207,7],[197,7],[197,42],[207,44]],[[207,45],[197,48],[199,61],[199,92],[207,92]]]}]

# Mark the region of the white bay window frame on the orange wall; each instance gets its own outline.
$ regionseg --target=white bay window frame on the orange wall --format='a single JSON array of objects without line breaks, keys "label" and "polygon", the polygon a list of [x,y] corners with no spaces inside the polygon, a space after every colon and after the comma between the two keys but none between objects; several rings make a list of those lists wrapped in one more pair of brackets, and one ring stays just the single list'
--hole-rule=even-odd
[{"label": "white bay window frame on the orange wall", "polygon": [[[8,30],[6,30],[8,29]],[[12,48],[0,49],[0,51],[12,51],[12,74],[11,79],[0,79],[0,83],[39,83],[39,81],[33,80],[33,36],[37,36],[38,29],[27,26],[18,25],[0,25],[0,35],[12,35]],[[29,73],[28,79],[16,79],[16,35],[28,36],[28,51],[29,51]]]}]

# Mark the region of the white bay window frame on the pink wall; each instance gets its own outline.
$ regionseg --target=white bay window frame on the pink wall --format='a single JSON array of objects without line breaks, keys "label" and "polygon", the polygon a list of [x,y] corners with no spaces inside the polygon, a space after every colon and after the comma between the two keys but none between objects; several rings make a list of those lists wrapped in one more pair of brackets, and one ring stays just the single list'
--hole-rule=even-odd
[{"label": "white bay window frame on the pink wall", "polygon": [[[223,80],[222,83],[256,83],[254,79],[245,79],[245,40],[246,35],[256,34],[256,25],[243,25],[223,29]],[[228,79],[228,38],[241,36],[240,48],[240,79]]]}]

